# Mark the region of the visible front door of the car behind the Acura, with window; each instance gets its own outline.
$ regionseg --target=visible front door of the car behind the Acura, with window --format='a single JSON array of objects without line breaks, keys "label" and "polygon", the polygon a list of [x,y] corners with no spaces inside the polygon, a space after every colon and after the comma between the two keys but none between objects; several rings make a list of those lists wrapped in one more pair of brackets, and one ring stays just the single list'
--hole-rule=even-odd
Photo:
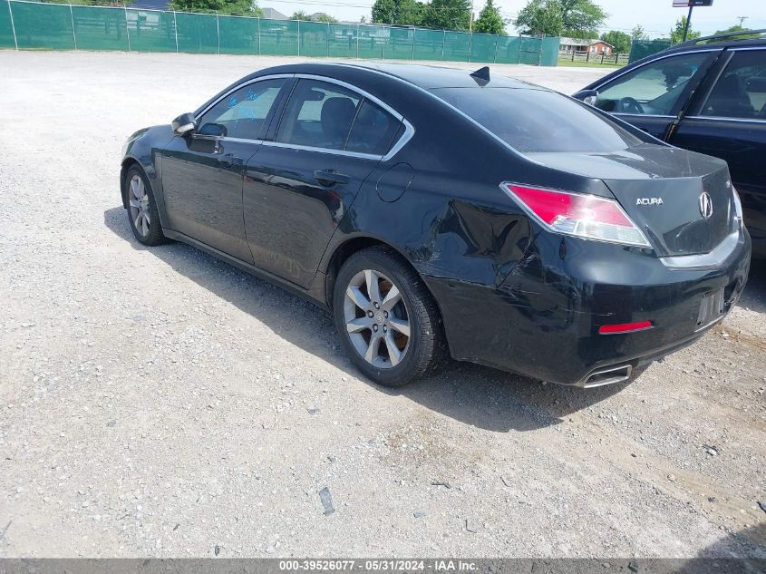
[{"label": "visible front door of the car behind the Acura, with window", "polygon": [[596,88],[596,107],[663,140],[720,50],[666,55]]}]

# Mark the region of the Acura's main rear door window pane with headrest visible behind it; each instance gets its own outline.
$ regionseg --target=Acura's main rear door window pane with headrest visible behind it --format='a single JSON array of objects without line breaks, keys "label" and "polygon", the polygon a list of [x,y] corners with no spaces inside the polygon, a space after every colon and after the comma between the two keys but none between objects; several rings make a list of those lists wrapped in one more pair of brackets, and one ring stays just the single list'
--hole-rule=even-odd
[{"label": "Acura's main rear door window pane with headrest visible behind it", "polygon": [[276,141],[343,150],[362,96],[335,83],[301,79],[287,102]]}]

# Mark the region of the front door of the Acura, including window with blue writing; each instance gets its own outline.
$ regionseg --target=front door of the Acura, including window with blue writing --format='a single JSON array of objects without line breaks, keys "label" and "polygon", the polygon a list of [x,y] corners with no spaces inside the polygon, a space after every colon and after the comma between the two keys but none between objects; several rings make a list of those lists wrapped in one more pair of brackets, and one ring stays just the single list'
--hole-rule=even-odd
[{"label": "front door of the Acura, including window with blue writing", "polygon": [[162,151],[162,189],[170,229],[247,263],[253,262],[242,219],[242,181],[286,84],[247,83],[228,92]]}]

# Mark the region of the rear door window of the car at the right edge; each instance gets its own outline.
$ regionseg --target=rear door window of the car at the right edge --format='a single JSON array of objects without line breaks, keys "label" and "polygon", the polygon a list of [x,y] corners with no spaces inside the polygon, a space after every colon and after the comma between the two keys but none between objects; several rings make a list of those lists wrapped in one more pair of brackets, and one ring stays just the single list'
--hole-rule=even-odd
[{"label": "rear door window of the car at the right edge", "polygon": [[735,52],[703,104],[701,115],[766,120],[766,50]]}]

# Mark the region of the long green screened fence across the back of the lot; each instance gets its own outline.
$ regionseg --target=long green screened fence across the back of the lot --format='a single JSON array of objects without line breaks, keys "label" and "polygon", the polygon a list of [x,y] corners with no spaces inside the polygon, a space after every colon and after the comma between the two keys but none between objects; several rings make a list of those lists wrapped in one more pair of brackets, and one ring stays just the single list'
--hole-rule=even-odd
[{"label": "long green screened fence across the back of the lot", "polygon": [[25,0],[0,0],[0,48],[558,63],[558,38]]}]

